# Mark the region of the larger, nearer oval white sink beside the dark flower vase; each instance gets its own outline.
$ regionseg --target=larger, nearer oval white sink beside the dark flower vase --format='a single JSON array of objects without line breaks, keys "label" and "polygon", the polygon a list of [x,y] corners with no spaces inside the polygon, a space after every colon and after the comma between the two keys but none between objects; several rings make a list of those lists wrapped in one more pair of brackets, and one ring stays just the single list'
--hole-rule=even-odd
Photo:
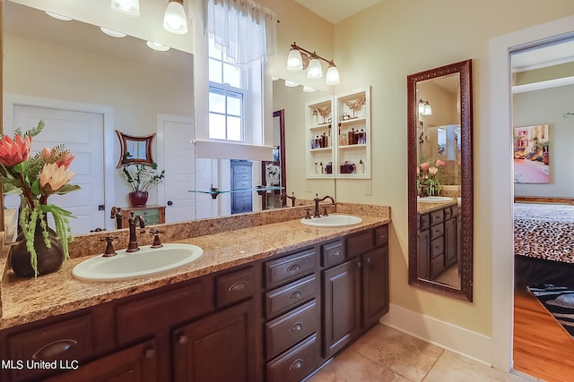
[{"label": "larger, nearer oval white sink beside the dark flower vase", "polygon": [[204,250],[191,244],[167,243],[161,248],[140,247],[136,252],[117,250],[117,255],[98,255],[72,269],[72,276],[82,281],[121,281],[158,275],[199,259]]}]

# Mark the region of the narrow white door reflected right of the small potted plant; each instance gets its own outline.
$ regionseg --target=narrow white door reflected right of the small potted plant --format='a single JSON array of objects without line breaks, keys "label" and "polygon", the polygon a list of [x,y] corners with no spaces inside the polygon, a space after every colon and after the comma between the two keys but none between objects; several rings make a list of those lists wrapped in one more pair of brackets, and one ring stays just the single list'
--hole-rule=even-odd
[{"label": "narrow white door reflected right of the small potted plant", "polygon": [[[165,179],[163,198],[158,200],[165,208],[165,222],[175,223],[196,219],[196,147],[191,142],[195,126],[185,118],[158,116],[158,143],[163,146]],[[161,157],[161,156],[159,156]]]}]

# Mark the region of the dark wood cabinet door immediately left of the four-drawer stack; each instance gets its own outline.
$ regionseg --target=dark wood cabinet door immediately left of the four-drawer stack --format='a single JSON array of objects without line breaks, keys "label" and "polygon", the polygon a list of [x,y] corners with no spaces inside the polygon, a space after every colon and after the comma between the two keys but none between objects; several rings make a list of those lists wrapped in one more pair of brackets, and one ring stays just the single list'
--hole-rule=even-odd
[{"label": "dark wood cabinet door immediately left of the four-drawer stack", "polygon": [[256,380],[254,311],[250,300],[175,330],[174,381]]}]

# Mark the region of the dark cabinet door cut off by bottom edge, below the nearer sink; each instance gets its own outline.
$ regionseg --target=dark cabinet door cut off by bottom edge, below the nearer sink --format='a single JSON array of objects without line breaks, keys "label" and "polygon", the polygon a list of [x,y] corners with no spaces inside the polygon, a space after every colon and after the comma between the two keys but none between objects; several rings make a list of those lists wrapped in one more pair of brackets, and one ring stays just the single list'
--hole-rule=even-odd
[{"label": "dark cabinet door cut off by bottom edge, below the nearer sink", "polygon": [[[49,382],[155,382],[160,380],[157,360],[155,341],[148,341],[100,358],[74,371],[45,380]],[[68,369],[76,366],[77,364],[73,361],[65,364]]]}]

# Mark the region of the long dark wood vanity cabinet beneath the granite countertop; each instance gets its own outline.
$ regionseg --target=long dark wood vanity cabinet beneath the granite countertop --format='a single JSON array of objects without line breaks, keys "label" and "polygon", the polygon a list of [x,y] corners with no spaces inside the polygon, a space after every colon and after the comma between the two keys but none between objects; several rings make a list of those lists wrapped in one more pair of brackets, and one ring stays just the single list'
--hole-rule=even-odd
[{"label": "long dark wood vanity cabinet beneath the granite countertop", "polygon": [[0,380],[303,380],[387,312],[387,239],[382,225],[4,329]]}]

